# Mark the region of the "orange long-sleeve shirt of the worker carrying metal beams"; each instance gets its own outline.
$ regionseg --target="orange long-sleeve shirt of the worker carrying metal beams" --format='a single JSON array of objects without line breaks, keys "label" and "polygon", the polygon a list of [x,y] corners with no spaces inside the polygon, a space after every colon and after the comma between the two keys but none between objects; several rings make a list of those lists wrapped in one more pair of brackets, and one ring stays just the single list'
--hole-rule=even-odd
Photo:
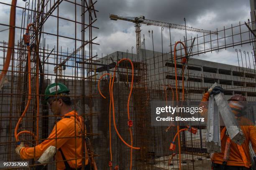
[{"label": "orange long-sleeve shirt of the worker carrying metal beams", "polygon": [[[204,96],[202,98],[201,105],[204,105],[205,102],[208,101],[209,96],[210,96],[210,94],[208,92],[204,94]],[[206,116],[207,107],[204,107],[201,114],[202,114],[203,117],[207,117]],[[238,123],[239,122],[241,122],[241,124],[243,124],[243,122],[250,122],[250,120],[248,120],[247,118],[242,116],[242,117],[240,117],[240,120],[238,121]],[[234,143],[231,140],[230,155],[229,155],[229,160],[227,162],[227,165],[230,165],[230,166],[247,166],[248,167],[248,166],[251,166],[251,157],[250,157],[250,152],[249,152],[249,142],[250,141],[251,141],[254,152],[256,152],[256,127],[253,126],[253,125],[251,125],[251,126],[240,126],[240,127],[241,127],[241,130],[243,131],[243,134],[244,134],[245,138],[246,138],[244,143],[241,145],[245,155],[244,156],[241,155],[237,144]],[[224,131],[222,132],[221,153],[214,153],[212,158],[211,158],[211,160],[214,163],[218,163],[218,164],[222,164],[223,161],[224,161],[223,157],[224,157],[225,145],[226,145],[226,140],[227,140],[227,135],[225,135]],[[247,165],[245,165],[245,163],[243,162],[243,159],[247,160],[247,162],[248,162]]]}]

